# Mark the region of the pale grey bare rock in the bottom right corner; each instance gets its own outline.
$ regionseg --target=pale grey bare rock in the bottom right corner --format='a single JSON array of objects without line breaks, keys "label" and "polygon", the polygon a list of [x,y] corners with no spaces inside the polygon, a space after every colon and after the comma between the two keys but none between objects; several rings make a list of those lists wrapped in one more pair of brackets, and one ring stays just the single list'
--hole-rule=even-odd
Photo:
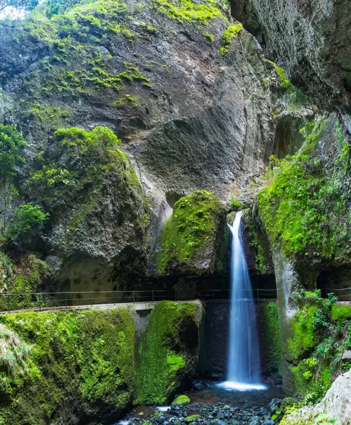
[{"label": "pale grey bare rock in the bottom right corner", "polygon": [[351,370],[340,375],[323,400],[313,407],[302,407],[284,416],[282,425],[312,425],[316,419],[338,419],[340,425],[351,424]]}]

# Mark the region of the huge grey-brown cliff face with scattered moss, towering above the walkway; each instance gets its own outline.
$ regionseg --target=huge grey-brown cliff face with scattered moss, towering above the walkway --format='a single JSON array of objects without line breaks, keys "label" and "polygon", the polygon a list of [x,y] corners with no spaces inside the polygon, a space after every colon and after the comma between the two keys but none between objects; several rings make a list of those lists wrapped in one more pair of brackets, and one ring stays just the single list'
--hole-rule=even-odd
[{"label": "huge grey-brown cliff face with scattered moss, towering above the walkway", "polygon": [[[0,120],[16,125],[28,142],[18,203],[34,200],[25,182],[42,155],[79,168],[69,152],[57,156],[53,135],[73,126],[115,132],[151,198],[149,237],[148,203],[137,183],[130,191],[122,171],[103,173],[96,208],[78,201],[52,211],[34,249],[60,289],[135,285],[180,196],[206,189],[226,200],[246,189],[275,152],[273,110],[277,116],[284,89],[250,34],[238,27],[228,41],[232,24],[219,4],[99,0],[50,21],[34,16],[2,24]],[[117,162],[133,175],[128,159]],[[81,214],[81,229],[67,239],[68,220]]]}]

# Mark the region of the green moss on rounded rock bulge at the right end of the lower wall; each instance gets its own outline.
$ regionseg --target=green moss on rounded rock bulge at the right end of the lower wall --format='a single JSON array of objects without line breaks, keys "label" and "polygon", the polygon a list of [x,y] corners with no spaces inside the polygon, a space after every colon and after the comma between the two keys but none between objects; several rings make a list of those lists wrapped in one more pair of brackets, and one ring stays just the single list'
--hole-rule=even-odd
[{"label": "green moss on rounded rock bulge at the right end of the lower wall", "polygon": [[138,348],[136,404],[167,402],[181,378],[189,373],[194,353],[186,350],[185,341],[180,344],[180,335],[196,323],[196,315],[195,304],[171,301],[160,302],[151,312]]}]

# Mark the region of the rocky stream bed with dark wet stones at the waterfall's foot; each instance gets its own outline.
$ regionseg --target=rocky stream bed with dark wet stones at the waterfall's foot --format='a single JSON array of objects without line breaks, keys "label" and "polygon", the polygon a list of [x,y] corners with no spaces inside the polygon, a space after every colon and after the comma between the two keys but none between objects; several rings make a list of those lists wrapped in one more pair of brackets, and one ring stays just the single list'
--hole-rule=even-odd
[{"label": "rocky stream bed with dark wet stones at the waterfall's foot", "polygon": [[246,392],[221,390],[214,383],[197,383],[195,387],[200,390],[190,391],[189,397],[182,396],[187,403],[164,407],[136,407],[117,424],[275,425],[282,419],[282,399],[272,398],[272,395],[282,394],[280,387]]}]

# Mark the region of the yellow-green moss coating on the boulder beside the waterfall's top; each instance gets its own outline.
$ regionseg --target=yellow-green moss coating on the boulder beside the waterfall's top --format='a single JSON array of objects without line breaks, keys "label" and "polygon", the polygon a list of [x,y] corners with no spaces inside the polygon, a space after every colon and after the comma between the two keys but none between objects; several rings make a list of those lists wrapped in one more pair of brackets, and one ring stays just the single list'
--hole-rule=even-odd
[{"label": "yellow-green moss coating on the boulder beside the waterfall's top", "polygon": [[220,200],[207,191],[180,198],[163,227],[156,271],[163,273],[171,261],[190,263],[202,249],[213,244],[222,211]]}]

